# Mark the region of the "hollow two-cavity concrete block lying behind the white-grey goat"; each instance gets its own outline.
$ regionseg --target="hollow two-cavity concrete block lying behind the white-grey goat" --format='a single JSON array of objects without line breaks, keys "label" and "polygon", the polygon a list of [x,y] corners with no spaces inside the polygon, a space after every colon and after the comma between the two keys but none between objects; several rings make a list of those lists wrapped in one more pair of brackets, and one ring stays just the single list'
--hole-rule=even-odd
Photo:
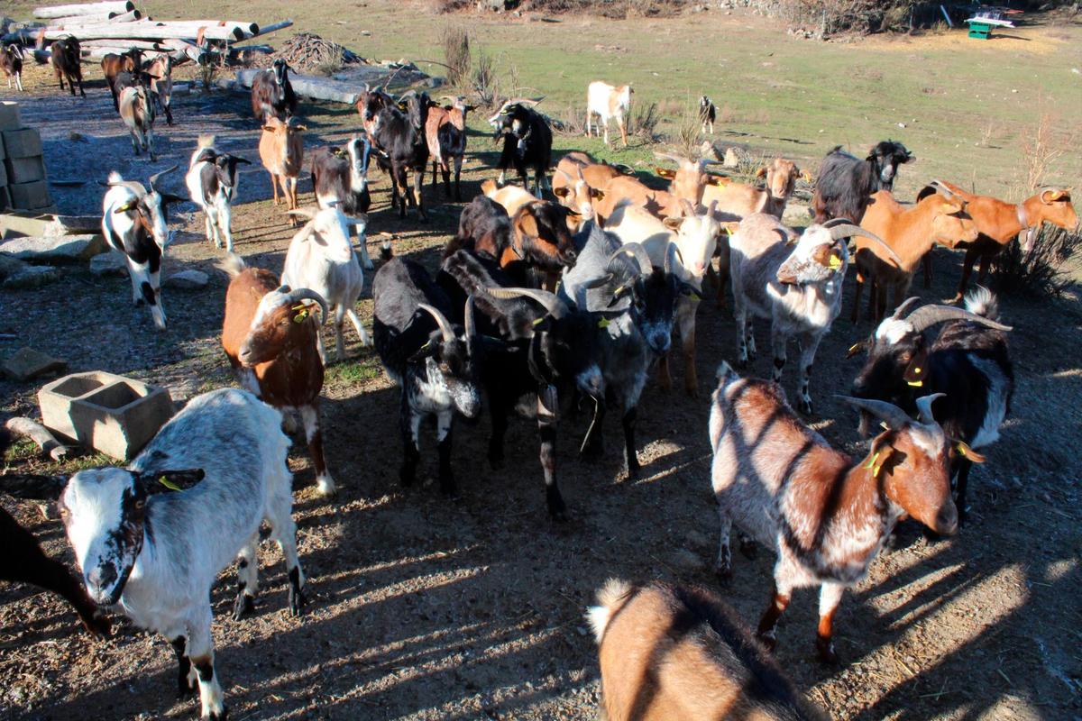
[{"label": "hollow two-cavity concrete block lying behind the white-grey goat", "polygon": [[104,371],[74,373],[38,391],[42,424],[80,445],[124,460],[173,415],[169,391]]}]

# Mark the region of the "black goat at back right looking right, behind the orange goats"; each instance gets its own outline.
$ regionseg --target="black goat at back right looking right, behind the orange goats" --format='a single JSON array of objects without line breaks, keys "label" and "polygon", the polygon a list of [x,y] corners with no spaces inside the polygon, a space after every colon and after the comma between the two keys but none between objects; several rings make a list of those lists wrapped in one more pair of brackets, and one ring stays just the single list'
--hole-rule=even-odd
[{"label": "black goat at back right looking right, behind the orange goats", "polygon": [[822,225],[845,217],[859,225],[872,193],[893,189],[898,165],[914,160],[906,146],[894,141],[881,142],[863,160],[836,146],[823,158],[815,182],[815,222]]}]

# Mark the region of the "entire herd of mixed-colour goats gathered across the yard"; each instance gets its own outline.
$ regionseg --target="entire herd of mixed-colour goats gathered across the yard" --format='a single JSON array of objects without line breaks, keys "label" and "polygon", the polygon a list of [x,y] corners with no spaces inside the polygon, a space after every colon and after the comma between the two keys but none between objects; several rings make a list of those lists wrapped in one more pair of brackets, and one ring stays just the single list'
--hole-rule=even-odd
[{"label": "entire herd of mixed-colour goats gathered across the yard", "polygon": [[[57,74],[65,57],[54,45]],[[168,63],[143,70],[129,56],[109,67],[117,70],[109,85],[135,150],[153,153],[154,98],[168,93]],[[150,81],[162,84],[155,90]],[[599,116],[606,143],[610,118],[626,143],[631,97],[626,85],[591,84],[588,117]],[[552,132],[533,105],[509,101],[490,118],[503,141],[500,181],[486,182],[484,195],[462,211],[436,276],[409,258],[392,259],[385,244],[385,262],[372,280],[372,339],[401,387],[400,480],[414,480],[426,417],[436,419],[439,488],[453,494],[454,418],[476,417],[488,405],[488,457],[499,465],[509,417],[525,409],[538,424],[547,510],[560,519],[566,506],[555,441],[560,408],[572,403],[593,405],[584,455],[602,453],[604,417],[616,410],[634,478],[636,406],[651,368],[659,368],[662,386],[670,385],[674,326],[683,342],[685,387],[697,391],[695,317],[718,256],[720,301],[731,281],[737,361],[743,366],[755,356],[750,319],[768,320],[774,383],[742,378],[724,362],[718,371],[709,426],[721,521],[716,570],[723,578],[733,572],[735,523],[743,549],[762,544],[776,551],[773,597],[756,641],[709,591],[609,582],[590,610],[604,706],[612,720],[818,718],[765,654],[791,591],[821,587],[817,644],[823,660],[835,662],[831,639],[842,591],[866,575],[899,519],[912,517],[937,534],[955,532],[965,518],[969,466],[997,440],[1014,387],[1005,336],[1011,329],[999,322],[994,296],[978,289],[965,296],[965,309],[902,302],[916,266],[934,244],[966,248],[961,299],[976,259],[984,276],[988,258],[1019,233],[1045,221],[1077,226],[1069,190],[1042,188],[1006,203],[933,182],[906,206],[890,192],[898,166],[913,160],[901,144],[880,143],[865,159],[835,148],[815,185],[814,223],[800,232],[781,217],[802,173],[781,159],[761,171],[766,184],[757,188],[708,172],[709,161],[659,155],[676,168],[658,169],[670,181],[668,190],[658,190],[621,168],[570,152],[549,184]],[[292,412],[299,413],[318,489],[333,493],[319,431],[320,324],[333,313],[339,359],[345,317],[369,343],[355,309],[364,269],[373,267],[366,250],[369,159],[374,155],[387,172],[392,206],[403,216],[413,206],[424,218],[430,157],[433,183],[438,168],[448,196],[453,165],[460,197],[471,109],[462,98],[440,106],[425,93],[395,98],[369,90],[357,107],[365,133],[312,155],[318,209],[301,209],[296,178],[305,128],[293,117],[288,66],[278,61],[253,83],[252,108],[263,122],[260,157],[275,200],[280,187],[291,222],[307,218],[290,241],[280,278],[246,267],[232,252],[237,164],[249,161],[217,150],[212,137],[199,139],[186,185],[204,212],[208,240],[228,250],[222,344],[245,390],[190,401],[127,469],[83,470],[67,481],[60,509],[85,591],[10,522],[17,543],[9,547],[22,549],[15,564],[26,566],[19,579],[63,593],[88,628],[105,628],[96,609],[116,606],[166,636],[176,652],[180,689],[198,687],[204,719],[225,718],[209,589],[236,558],[234,615],[252,607],[262,521],[283,550],[291,611],[305,603],[281,427],[283,417],[291,426]],[[168,101],[164,108],[169,112]],[[713,105],[703,97],[700,108],[712,132]],[[510,166],[524,186],[533,170],[532,193],[503,185]],[[134,301],[146,303],[164,328],[158,275],[171,235],[166,208],[181,198],[158,188],[160,176],[144,187],[110,174],[102,229],[128,258]],[[542,199],[546,185],[555,201]],[[867,352],[867,362],[844,399],[859,410],[861,433],[882,425],[856,460],[832,449],[801,415],[813,410],[816,349],[841,312],[850,263],[856,301],[868,284],[869,313],[879,325],[850,349]],[[928,334],[935,328],[938,334]],[[801,413],[777,383],[791,338],[800,347]],[[157,493],[163,490],[172,492]]]}]

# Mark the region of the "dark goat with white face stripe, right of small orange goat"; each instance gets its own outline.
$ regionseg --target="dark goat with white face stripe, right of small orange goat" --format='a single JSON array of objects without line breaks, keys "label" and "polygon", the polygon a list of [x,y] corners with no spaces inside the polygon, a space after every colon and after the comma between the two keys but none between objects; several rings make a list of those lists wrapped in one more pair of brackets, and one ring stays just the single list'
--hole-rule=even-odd
[{"label": "dark goat with white face stripe, right of small orange goat", "polygon": [[[368,190],[368,160],[371,152],[372,144],[368,138],[354,135],[344,147],[322,147],[312,153],[312,186],[320,208],[337,204],[346,215],[368,212],[372,204],[372,196]],[[360,263],[365,270],[371,270],[375,266],[368,256],[368,238],[362,227],[357,228]]]}]

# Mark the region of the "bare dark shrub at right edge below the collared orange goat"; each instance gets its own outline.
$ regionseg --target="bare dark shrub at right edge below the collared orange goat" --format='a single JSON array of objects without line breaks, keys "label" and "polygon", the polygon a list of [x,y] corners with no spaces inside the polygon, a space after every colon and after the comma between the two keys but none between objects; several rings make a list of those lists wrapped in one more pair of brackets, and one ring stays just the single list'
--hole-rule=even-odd
[{"label": "bare dark shrub at right edge below the collared orange goat", "polygon": [[1012,242],[995,257],[992,288],[1001,294],[1061,295],[1074,282],[1071,267],[1080,253],[1082,233],[1045,223],[1028,252]]}]

